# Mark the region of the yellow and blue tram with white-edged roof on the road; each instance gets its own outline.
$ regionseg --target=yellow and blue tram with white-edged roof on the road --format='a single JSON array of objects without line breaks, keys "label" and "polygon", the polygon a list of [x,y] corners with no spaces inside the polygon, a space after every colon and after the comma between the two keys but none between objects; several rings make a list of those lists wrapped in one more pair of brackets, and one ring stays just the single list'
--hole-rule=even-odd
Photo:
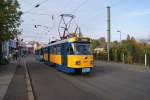
[{"label": "yellow and blue tram with white-edged roof on the road", "polygon": [[47,44],[35,51],[36,57],[67,73],[89,73],[93,55],[89,38],[73,37]]}]

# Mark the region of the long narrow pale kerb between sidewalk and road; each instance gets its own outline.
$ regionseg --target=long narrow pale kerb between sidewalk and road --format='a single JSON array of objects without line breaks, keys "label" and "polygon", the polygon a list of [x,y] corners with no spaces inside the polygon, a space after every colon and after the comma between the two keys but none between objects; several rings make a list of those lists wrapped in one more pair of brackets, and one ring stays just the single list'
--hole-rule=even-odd
[{"label": "long narrow pale kerb between sidewalk and road", "polygon": [[28,100],[35,100],[35,97],[33,95],[33,88],[31,86],[29,71],[27,69],[27,65],[24,60],[24,66],[25,66],[25,72],[26,72],[26,84],[27,84],[27,92],[28,92]]}]

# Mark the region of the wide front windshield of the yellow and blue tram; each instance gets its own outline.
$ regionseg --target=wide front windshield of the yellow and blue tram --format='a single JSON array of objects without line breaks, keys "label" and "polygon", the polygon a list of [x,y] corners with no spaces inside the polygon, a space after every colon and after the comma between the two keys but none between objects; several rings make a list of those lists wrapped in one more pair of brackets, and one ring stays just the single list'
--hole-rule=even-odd
[{"label": "wide front windshield of the yellow and blue tram", "polygon": [[92,54],[92,49],[90,44],[73,43],[72,47],[73,47],[74,54],[76,55]]}]

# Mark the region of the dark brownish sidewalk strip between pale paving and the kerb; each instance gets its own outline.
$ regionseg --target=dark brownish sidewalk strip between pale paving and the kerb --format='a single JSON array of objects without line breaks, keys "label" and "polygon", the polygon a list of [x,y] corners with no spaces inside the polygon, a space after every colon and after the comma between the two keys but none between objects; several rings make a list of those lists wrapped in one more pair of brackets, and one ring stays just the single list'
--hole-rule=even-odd
[{"label": "dark brownish sidewalk strip between pale paving and the kerb", "polygon": [[25,67],[16,67],[16,72],[3,100],[28,100]]}]

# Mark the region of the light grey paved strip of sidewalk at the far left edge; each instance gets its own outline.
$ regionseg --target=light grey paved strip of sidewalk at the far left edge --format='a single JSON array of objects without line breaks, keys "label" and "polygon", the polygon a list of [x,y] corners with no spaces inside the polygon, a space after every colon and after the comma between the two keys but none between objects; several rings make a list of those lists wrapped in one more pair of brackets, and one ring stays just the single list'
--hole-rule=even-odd
[{"label": "light grey paved strip of sidewalk at the far left edge", "polygon": [[2,100],[6,94],[8,86],[15,74],[15,70],[15,62],[8,65],[0,65],[0,100]]}]

